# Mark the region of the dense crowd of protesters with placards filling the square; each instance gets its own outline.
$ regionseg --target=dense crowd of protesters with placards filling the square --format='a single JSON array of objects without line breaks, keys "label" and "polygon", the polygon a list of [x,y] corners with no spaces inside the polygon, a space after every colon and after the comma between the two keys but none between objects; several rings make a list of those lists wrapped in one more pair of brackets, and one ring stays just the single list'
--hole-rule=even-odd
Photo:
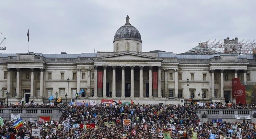
[{"label": "dense crowd of protesters with placards filling the square", "polygon": [[[222,105],[220,102],[214,104],[220,109],[252,108],[242,104],[229,104],[229,106]],[[227,136],[228,131],[232,131],[232,139],[239,139],[238,133],[243,139],[256,139],[256,125],[248,121],[234,123],[200,121],[202,117],[197,116],[195,109],[208,109],[212,105],[213,103],[204,107],[194,104],[188,106],[174,104],[9,105],[8,107],[11,108],[60,108],[62,115],[59,121],[42,123],[39,120],[24,121],[23,126],[16,130],[12,126],[13,122],[4,121],[4,125],[0,127],[0,135],[6,136],[7,139],[19,137],[24,139],[25,136],[29,136],[30,139],[39,139],[38,136],[31,136],[31,133],[32,129],[40,129],[41,139],[157,139],[163,138],[159,135],[162,136],[162,131],[169,129],[172,139],[192,139],[193,133],[196,133],[196,138],[199,139],[209,139],[210,134],[219,135],[221,139]],[[69,119],[69,126],[66,128],[64,122],[67,119]],[[127,119],[130,119],[130,125],[123,123]],[[237,130],[233,129],[234,125]]]}]

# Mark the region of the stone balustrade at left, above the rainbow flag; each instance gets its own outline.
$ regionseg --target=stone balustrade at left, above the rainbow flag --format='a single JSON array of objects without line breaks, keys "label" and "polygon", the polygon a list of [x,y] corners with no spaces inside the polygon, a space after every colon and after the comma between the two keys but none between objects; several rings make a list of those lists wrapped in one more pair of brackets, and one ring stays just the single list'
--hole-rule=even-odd
[{"label": "stone balustrade at left, above the rainbow flag", "polygon": [[30,118],[32,121],[35,119],[38,120],[39,116],[52,116],[52,121],[58,121],[62,114],[60,109],[0,109],[0,117],[2,117],[4,120],[9,121],[11,118],[11,113],[13,113],[14,115],[20,113],[20,118],[26,121],[29,121]]}]

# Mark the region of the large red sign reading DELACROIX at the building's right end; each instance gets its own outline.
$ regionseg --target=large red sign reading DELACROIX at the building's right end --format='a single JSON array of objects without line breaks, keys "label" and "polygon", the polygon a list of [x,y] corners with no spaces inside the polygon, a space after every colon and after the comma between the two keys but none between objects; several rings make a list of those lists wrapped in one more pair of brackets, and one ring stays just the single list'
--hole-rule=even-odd
[{"label": "large red sign reading DELACROIX at the building's right end", "polygon": [[245,86],[241,84],[239,78],[232,79],[233,98],[236,98],[236,103],[244,104],[245,100]]}]

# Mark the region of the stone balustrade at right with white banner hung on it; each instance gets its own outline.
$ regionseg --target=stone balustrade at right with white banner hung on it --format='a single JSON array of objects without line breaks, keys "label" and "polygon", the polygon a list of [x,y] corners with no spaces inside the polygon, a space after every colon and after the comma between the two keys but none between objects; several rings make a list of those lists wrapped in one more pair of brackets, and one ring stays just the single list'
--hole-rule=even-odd
[{"label": "stone balustrade at right with white banner hung on it", "polygon": [[[206,114],[206,118],[202,118],[203,114]],[[235,119],[235,115],[239,116],[251,116],[251,119],[246,119],[246,121],[256,122],[256,118],[253,118],[252,114],[254,114],[256,110],[232,110],[232,109],[196,109],[196,114],[203,122],[209,121],[212,119],[222,119],[226,122],[235,122],[243,120]]]}]

